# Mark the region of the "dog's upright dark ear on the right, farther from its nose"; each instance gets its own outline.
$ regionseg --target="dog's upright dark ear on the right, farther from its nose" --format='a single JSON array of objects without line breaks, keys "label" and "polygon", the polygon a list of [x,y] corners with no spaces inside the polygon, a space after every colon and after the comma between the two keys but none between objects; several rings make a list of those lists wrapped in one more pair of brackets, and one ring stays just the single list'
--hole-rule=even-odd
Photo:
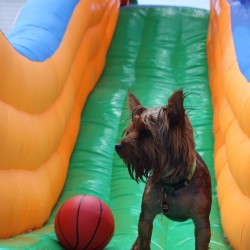
[{"label": "dog's upright dark ear on the right, farther from its nose", "polygon": [[181,125],[184,121],[185,109],[183,102],[184,96],[182,90],[177,90],[169,97],[167,107],[170,125]]}]

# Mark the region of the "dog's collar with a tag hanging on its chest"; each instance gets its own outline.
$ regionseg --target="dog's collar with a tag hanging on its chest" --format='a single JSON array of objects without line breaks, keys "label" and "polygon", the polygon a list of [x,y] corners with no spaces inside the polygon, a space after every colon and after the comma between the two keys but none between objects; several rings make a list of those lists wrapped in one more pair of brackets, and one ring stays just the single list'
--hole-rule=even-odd
[{"label": "dog's collar with a tag hanging on its chest", "polygon": [[169,209],[168,199],[167,199],[167,191],[169,191],[169,190],[177,191],[179,189],[186,187],[189,184],[192,177],[194,176],[195,170],[196,170],[196,159],[194,160],[194,163],[191,167],[191,171],[189,172],[187,178],[184,181],[181,181],[181,182],[178,182],[178,183],[172,184],[172,185],[166,185],[166,184],[162,185],[162,201],[161,201],[162,213],[166,213]]}]

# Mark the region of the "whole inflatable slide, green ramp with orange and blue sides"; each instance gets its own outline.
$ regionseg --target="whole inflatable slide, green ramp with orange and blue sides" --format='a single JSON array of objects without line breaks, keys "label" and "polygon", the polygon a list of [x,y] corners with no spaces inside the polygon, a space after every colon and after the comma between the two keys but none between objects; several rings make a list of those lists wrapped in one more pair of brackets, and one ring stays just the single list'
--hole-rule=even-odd
[{"label": "whole inflatable slide, green ramp with orange and blue sides", "polygon": [[[145,184],[114,150],[127,94],[160,106],[181,88],[212,177],[210,249],[250,249],[250,2],[121,3],[29,0],[0,34],[0,248],[62,249],[56,213],[87,194],[114,215],[106,249],[130,249]],[[192,221],[154,221],[153,250],[194,243]]]}]

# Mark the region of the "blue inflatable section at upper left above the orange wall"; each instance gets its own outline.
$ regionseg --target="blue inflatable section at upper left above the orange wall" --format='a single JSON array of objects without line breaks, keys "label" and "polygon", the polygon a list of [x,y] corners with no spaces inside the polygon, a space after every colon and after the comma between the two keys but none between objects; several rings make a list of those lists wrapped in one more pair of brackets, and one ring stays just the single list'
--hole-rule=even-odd
[{"label": "blue inflatable section at upper left above the orange wall", "polygon": [[[45,61],[59,47],[79,0],[28,1],[20,12],[8,40],[32,61]],[[37,13],[43,15],[37,15]]]}]

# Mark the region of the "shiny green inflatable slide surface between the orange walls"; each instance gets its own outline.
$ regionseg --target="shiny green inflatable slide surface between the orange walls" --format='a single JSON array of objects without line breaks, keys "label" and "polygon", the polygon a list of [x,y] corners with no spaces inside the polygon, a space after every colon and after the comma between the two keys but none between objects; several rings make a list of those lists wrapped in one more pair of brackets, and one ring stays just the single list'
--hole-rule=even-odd
[{"label": "shiny green inflatable slide surface between the orange walls", "polygon": [[[210,249],[230,249],[220,224],[213,172],[212,107],[207,76],[209,12],[177,7],[126,7],[120,11],[104,73],[82,113],[81,129],[67,181],[48,223],[39,230],[0,241],[0,249],[61,249],[54,218],[70,197],[97,196],[114,214],[115,233],[106,247],[130,249],[137,237],[144,183],[133,181],[117,156],[129,116],[128,91],[147,107],[164,105],[176,89],[190,93],[185,106],[195,130],[196,149],[212,176]],[[178,223],[159,215],[151,249],[194,249],[191,220]]]}]

